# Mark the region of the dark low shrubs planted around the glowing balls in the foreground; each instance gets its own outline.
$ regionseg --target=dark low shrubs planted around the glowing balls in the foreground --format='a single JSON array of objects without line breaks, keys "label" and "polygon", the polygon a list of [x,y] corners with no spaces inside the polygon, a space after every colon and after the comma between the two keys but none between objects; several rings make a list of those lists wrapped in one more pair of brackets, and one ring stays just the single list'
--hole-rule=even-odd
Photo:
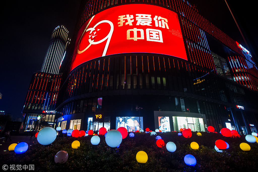
[{"label": "dark low shrubs planted around the glowing balls in the foreground", "polygon": [[[127,136],[123,139],[118,149],[110,149],[105,142],[105,137],[100,136],[100,144],[96,149],[87,137],[63,137],[57,138],[49,147],[36,144],[29,146],[29,150],[20,156],[14,152],[7,152],[0,156],[0,167],[3,164],[35,164],[36,171],[251,171],[256,169],[258,162],[257,143],[251,145],[251,151],[242,151],[239,144],[246,142],[244,137],[225,138],[221,134],[205,133],[197,136],[192,132],[191,138],[178,136],[177,132],[158,133],[165,143],[174,142],[176,151],[170,153],[166,146],[159,148],[156,145],[156,136],[146,133],[135,133],[133,138]],[[230,147],[224,153],[215,151],[215,141],[222,139],[229,143]],[[71,143],[75,140],[80,142],[78,149],[72,149]],[[191,142],[199,144],[198,150],[190,147]],[[246,142],[247,143],[247,142]],[[54,161],[58,151],[65,150],[69,158],[66,163],[57,164]],[[146,164],[138,164],[136,153],[145,151],[148,154]],[[197,165],[187,166],[184,156],[192,154]]]}]

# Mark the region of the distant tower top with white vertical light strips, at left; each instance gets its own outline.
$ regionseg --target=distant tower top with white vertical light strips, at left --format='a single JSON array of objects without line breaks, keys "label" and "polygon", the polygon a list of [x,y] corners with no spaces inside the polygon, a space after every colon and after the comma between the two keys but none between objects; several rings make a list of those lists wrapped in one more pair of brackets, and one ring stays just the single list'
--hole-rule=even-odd
[{"label": "distant tower top with white vertical light strips, at left", "polygon": [[70,43],[68,30],[64,26],[54,29],[41,71],[58,74],[66,48]]}]

